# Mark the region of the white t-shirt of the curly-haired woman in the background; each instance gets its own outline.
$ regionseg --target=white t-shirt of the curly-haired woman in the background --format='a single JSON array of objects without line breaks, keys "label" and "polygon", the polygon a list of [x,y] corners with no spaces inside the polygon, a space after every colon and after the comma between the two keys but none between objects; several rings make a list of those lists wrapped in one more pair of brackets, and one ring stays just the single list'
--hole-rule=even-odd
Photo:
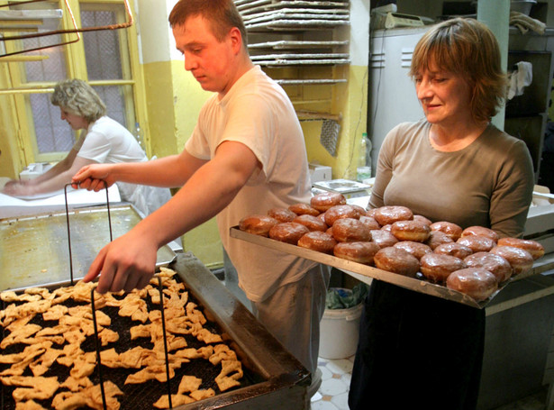
[{"label": "white t-shirt of the curly-haired woman in the background", "polygon": [[88,125],[73,148],[77,150],[78,157],[92,159],[99,164],[148,159],[132,133],[105,115]]}]

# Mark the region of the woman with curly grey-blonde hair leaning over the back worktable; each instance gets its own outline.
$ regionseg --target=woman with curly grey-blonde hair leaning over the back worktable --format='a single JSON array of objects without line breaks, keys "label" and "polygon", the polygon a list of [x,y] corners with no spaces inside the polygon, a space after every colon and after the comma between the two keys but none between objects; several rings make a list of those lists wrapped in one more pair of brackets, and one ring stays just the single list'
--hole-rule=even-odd
[{"label": "woman with curly grey-blonde hair leaning over the back worktable", "polygon": [[[88,164],[148,160],[132,133],[105,114],[104,102],[85,81],[75,78],[59,82],[50,102],[59,106],[61,119],[67,121],[74,131],[83,132],[66,158],[38,178],[8,182],[4,194],[36,196],[54,193],[63,189],[77,171]],[[118,187],[122,199],[131,202],[143,214],[150,214],[170,197],[168,189],[158,188],[156,195],[150,195],[143,192],[143,187],[132,184],[118,184]]]}]

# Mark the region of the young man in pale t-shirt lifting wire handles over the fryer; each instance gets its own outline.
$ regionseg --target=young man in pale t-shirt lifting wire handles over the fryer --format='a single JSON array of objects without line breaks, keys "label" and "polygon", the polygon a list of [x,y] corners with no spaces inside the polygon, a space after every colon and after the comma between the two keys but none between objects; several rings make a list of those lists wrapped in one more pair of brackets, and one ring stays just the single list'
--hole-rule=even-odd
[{"label": "young man in pale t-shirt lifting wire handles over the fryer", "polygon": [[100,251],[85,279],[102,273],[100,292],[144,287],[160,246],[217,215],[223,246],[254,313],[313,373],[311,396],[321,384],[316,369],[328,269],[229,236],[229,228],[246,215],[309,202],[304,138],[294,107],[252,64],[232,0],[181,0],[169,23],[186,70],[216,94],[204,104],[180,154],[86,167],[74,177],[88,189],[103,187],[99,179],[181,187],[168,204]]}]

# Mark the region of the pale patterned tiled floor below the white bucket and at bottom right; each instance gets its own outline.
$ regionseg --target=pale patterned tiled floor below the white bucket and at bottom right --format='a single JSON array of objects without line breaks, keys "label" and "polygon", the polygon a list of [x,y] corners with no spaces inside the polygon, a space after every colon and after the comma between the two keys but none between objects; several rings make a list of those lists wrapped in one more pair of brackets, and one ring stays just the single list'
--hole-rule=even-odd
[{"label": "pale patterned tiled floor below the white bucket and at bottom right", "polygon": [[[312,397],[311,410],[349,410],[348,392],[354,356],[348,359],[319,359],[322,386]],[[535,395],[495,410],[545,410],[546,388]]]}]

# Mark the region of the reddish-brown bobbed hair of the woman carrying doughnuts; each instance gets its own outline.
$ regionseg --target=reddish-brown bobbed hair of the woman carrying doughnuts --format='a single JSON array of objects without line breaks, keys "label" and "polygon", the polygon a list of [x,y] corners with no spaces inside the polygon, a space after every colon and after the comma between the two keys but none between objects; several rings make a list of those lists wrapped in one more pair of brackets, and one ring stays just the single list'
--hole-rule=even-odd
[{"label": "reddish-brown bobbed hair of the woman carrying doughnuts", "polygon": [[495,34],[484,23],[459,17],[431,27],[413,50],[409,75],[417,77],[431,63],[466,78],[472,87],[471,114],[477,121],[490,121],[504,104],[507,77]]}]

